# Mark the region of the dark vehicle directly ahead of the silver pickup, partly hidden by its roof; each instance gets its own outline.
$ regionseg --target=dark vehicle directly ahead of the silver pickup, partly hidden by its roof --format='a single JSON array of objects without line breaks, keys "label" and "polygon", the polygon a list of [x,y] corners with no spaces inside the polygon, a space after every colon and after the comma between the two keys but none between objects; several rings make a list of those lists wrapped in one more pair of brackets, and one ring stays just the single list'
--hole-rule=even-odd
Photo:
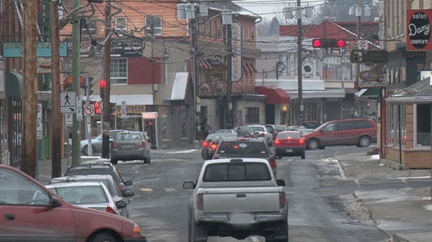
[{"label": "dark vehicle directly ahead of the silver pickup, partly hidden by its roof", "polygon": [[226,138],[219,140],[213,159],[261,158],[266,159],[276,175],[276,159],[262,138]]}]

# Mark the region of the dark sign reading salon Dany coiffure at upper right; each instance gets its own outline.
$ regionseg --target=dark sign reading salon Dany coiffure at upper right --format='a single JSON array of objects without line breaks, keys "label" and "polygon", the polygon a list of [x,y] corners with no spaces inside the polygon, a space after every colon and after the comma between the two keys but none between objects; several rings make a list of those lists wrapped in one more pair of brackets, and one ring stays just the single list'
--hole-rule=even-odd
[{"label": "dark sign reading salon Dany coiffure at upper right", "polygon": [[407,40],[408,51],[430,51],[432,9],[408,10]]}]

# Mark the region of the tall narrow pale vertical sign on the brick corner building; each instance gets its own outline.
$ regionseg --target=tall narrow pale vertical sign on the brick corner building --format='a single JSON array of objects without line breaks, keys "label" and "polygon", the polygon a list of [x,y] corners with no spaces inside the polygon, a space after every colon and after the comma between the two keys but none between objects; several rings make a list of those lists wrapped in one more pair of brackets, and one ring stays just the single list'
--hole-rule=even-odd
[{"label": "tall narrow pale vertical sign on the brick corner building", "polygon": [[239,23],[233,23],[231,38],[231,47],[233,49],[231,80],[240,81],[242,79],[242,26]]}]

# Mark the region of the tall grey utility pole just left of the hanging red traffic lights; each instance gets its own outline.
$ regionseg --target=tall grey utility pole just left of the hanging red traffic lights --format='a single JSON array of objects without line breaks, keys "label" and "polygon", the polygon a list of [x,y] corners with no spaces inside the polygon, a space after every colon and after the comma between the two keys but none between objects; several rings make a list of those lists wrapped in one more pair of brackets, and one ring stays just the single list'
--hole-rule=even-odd
[{"label": "tall grey utility pole just left of the hanging red traffic lights", "polygon": [[298,82],[298,104],[299,104],[299,112],[298,112],[298,124],[300,125],[303,122],[303,81],[302,81],[302,9],[300,8],[300,0],[297,0],[297,27],[298,27],[298,35],[297,35],[297,47],[298,47],[298,65],[297,65],[297,82]]}]

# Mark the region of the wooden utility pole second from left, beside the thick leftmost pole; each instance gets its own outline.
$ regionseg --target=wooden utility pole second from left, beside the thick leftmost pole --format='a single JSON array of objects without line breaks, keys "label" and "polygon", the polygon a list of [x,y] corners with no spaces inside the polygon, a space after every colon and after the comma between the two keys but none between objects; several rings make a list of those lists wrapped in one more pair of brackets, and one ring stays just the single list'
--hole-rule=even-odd
[{"label": "wooden utility pole second from left, beside the thick leftmost pole", "polygon": [[61,111],[60,111],[60,27],[59,3],[51,2],[51,76],[52,76],[52,112],[51,112],[51,177],[61,177]]}]

